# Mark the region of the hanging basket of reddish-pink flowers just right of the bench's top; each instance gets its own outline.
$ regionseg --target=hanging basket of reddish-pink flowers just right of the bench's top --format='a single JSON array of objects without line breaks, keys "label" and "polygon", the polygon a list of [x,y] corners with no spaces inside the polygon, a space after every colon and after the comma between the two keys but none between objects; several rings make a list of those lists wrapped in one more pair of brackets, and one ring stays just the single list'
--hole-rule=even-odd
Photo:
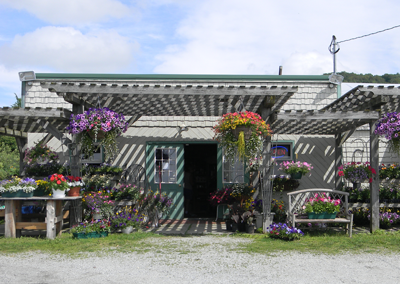
[{"label": "hanging basket of reddish-pink flowers just right of the bench's top", "polygon": [[372,182],[372,178],[376,175],[374,168],[370,166],[369,162],[351,162],[338,167],[339,176],[344,177],[353,184],[362,182]]}]

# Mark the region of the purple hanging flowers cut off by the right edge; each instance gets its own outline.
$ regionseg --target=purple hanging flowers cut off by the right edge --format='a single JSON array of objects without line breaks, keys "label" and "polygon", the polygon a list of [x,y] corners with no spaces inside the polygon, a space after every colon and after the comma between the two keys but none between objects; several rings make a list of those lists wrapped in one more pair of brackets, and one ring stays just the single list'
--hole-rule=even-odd
[{"label": "purple hanging flowers cut off by the right edge", "polygon": [[384,114],[376,123],[374,132],[384,136],[388,140],[389,149],[400,154],[400,112]]}]

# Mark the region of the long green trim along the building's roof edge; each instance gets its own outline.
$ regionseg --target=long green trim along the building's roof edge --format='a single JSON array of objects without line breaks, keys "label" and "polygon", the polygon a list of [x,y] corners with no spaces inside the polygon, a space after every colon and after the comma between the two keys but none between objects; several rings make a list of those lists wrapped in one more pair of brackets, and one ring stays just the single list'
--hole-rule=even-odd
[{"label": "long green trim along the building's roof edge", "polygon": [[36,79],[329,81],[328,75],[84,74],[36,73]]}]

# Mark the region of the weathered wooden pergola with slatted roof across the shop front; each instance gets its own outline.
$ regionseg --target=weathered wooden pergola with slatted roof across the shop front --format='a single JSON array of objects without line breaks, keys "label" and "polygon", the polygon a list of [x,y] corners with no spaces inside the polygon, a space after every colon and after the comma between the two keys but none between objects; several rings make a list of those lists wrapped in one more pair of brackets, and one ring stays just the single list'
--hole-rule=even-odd
[{"label": "weathered wooden pergola with slatted roof across the shop front", "polygon": [[[168,76],[168,75],[167,75]],[[271,125],[275,134],[334,135],[335,168],[341,164],[341,146],[357,127],[370,126],[370,163],[378,168],[378,137],[374,125],[381,112],[399,108],[400,89],[394,87],[358,86],[333,103],[315,111],[282,111],[282,106],[296,93],[296,82],[271,85],[257,78],[246,80],[237,76],[229,80],[224,76],[203,76],[187,79],[146,78],[95,80],[93,78],[49,78],[37,74],[36,80],[42,88],[62,97],[72,104],[72,112],[67,109],[23,108],[0,109],[0,133],[17,138],[20,153],[27,143],[27,133],[49,133],[62,143],[76,145],[64,137],[65,127],[71,113],[82,113],[89,107],[109,107],[129,117],[134,124],[141,116],[221,116],[235,112],[240,107],[261,114]],[[253,76],[254,77],[254,76]],[[301,77],[301,76],[298,76]],[[310,77],[310,76],[309,76]],[[319,79],[323,76],[316,76]],[[327,77],[327,76],[326,76]],[[282,80],[282,79],[280,79]],[[328,82],[327,78],[323,79]],[[79,151],[72,150],[71,173],[79,175]],[[272,188],[267,178],[270,169],[270,143],[265,142],[262,194],[264,221],[270,217]],[[22,155],[21,155],[22,165]],[[335,175],[336,187],[340,178]],[[371,232],[379,228],[379,178],[374,178],[371,188]]]}]

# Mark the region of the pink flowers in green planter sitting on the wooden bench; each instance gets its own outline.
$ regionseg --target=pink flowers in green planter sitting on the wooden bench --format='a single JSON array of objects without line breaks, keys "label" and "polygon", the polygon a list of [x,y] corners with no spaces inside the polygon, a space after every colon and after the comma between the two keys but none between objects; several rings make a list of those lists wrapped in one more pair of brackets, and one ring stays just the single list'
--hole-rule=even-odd
[{"label": "pink flowers in green planter sitting on the wooden bench", "polygon": [[305,200],[303,209],[309,219],[335,219],[340,211],[340,203],[340,199],[332,199],[325,193],[322,193],[322,196],[316,193],[314,197]]}]

